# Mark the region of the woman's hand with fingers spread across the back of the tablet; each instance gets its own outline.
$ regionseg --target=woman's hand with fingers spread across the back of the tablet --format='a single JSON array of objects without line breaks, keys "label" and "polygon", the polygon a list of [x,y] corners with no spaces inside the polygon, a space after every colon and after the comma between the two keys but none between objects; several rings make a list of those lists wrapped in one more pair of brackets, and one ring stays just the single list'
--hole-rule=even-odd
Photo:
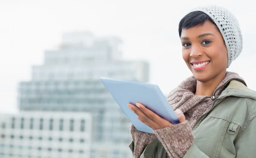
[{"label": "woman's hand with fingers spread across the back of the tablet", "polygon": [[[147,126],[151,127],[152,129],[162,129],[165,127],[172,126],[173,124],[169,121],[161,118],[151,110],[147,109],[143,104],[136,103],[136,106],[129,103],[128,104],[129,109],[134,112],[136,115],[138,115],[138,119],[146,124]],[[180,123],[185,121],[185,116],[181,112],[180,109],[175,110],[175,113],[177,115],[177,118],[179,119]]]}]

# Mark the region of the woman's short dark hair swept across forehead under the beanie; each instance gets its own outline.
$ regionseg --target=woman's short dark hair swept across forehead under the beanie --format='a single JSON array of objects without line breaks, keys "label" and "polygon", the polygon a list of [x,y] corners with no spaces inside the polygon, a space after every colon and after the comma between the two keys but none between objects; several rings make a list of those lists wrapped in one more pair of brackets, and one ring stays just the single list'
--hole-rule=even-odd
[{"label": "woman's short dark hair swept across forehead under the beanie", "polygon": [[209,15],[205,14],[202,11],[193,11],[189,14],[186,14],[186,16],[183,17],[179,23],[180,37],[181,37],[182,29],[189,29],[189,28],[195,27],[197,25],[203,25],[206,21],[212,22],[218,29],[217,25],[214,23],[212,18],[209,17]]}]

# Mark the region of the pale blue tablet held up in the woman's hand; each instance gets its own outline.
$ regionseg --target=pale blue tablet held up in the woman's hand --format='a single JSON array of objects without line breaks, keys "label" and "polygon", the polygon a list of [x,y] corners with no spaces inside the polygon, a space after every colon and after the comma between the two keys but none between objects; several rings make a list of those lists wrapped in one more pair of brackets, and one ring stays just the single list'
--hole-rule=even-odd
[{"label": "pale blue tablet held up in the woman's hand", "polygon": [[101,78],[101,81],[137,130],[153,133],[151,127],[137,119],[138,116],[127,107],[128,103],[134,105],[137,102],[142,103],[145,107],[172,124],[179,123],[175,112],[157,85],[111,78]]}]

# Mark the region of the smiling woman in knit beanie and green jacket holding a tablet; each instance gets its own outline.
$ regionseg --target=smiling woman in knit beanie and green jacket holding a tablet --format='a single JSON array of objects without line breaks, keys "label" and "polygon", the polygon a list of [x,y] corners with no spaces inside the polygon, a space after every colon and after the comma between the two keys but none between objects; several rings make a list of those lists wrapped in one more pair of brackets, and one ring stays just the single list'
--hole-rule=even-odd
[{"label": "smiling woman in knit beanie and green jacket holding a tablet", "polygon": [[134,158],[255,158],[256,92],[226,71],[242,50],[238,21],[222,7],[200,7],[183,17],[179,35],[193,74],[167,98],[180,124],[128,104],[154,129],[141,132],[131,124]]}]

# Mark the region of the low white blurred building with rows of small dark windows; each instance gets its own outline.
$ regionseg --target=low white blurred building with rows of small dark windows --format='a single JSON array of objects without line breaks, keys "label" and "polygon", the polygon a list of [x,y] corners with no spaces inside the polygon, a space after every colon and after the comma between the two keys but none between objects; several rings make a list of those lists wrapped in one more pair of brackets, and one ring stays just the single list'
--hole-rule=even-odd
[{"label": "low white blurred building with rows of small dark windows", "polygon": [[92,117],[81,112],[0,115],[1,158],[90,158]]}]

